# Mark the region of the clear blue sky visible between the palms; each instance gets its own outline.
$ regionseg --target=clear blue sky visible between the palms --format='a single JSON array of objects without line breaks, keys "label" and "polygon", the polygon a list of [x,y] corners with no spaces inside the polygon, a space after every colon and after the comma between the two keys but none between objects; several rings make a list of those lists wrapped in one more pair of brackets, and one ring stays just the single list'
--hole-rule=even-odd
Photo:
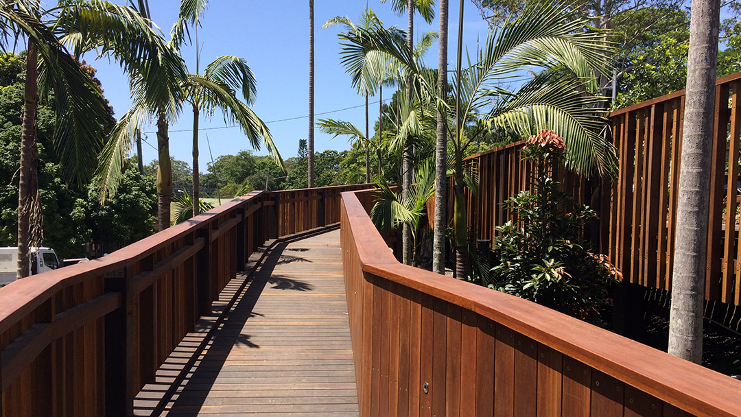
[{"label": "clear blue sky visible between the palms", "polygon": [[[124,0],[116,3],[125,4]],[[455,47],[458,33],[458,1],[451,1],[449,10],[448,68],[455,67]],[[322,29],[327,19],[333,16],[348,16],[353,21],[365,8],[366,1],[352,0],[315,0],[315,113],[357,107],[319,117],[331,117],[351,121],[356,126],[365,126],[365,113],[362,107],[362,96],[350,87],[350,78],[339,65],[339,43],[336,34],[340,27]],[[391,4],[379,0],[368,1],[371,7],[386,26],[395,24],[406,30],[406,17],[397,16],[391,11]],[[170,28],[176,19],[179,0],[150,0],[153,20],[169,35]],[[437,6],[436,6],[437,7]],[[437,14],[437,13],[436,13]],[[426,24],[421,17],[415,19],[416,35],[438,29],[438,21]],[[211,0],[202,16],[202,28],[199,29],[199,42],[203,44],[201,56],[202,67],[222,55],[236,55],[247,59],[257,80],[257,99],[253,109],[264,121],[268,122],[273,140],[284,156],[296,156],[299,139],[308,137],[308,1],[250,1],[250,0]],[[472,51],[476,40],[485,39],[487,24],[479,15],[479,10],[466,1],[464,14],[464,45]],[[191,32],[191,36],[193,33]],[[425,56],[425,63],[436,67],[437,43]],[[464,46],[465,53],[465,46]],[[195,71],[195,47],[184,47],[182,55],[190,71]],[[93,61],[93,56],[85,56],[89,64],[98,69],[97,76],[102,81],[104,94],[116,115],[122,115],[130,106],[129,90],[126,78],[119,66],[107,59]],[[464,57],[465,61],[465,57]],[[386,90],[384,99],[391,97],[393,91]],[[371,97],[371,102],[377,98]],[[371,104],[371,120],[377,114],[378,104]],[[303,117],[302,117],[303,116]],[[290,121],[282,119],[301,118]],[[192,160],[192,124],[193,113],[185,109],[179,121],[170,124],[170,153],[183,161]],[[220,115],[212,121],[201,120],[200,165],[205,171],[210,156],[207,138],[210,141],[213,157],[234,154],[240,150],[250,149],[247,139],[239,128],[213,129],[224,127]],[[144,130],[152,131],[150,125]],[[371,122],[371,131],[373,124]],[[372,133],[371,133],[372,134]],[[148,133],[142,144],[144,162],[156,159],[156,136]],[[349,144],[345,139],[330,140],[330,136],[315,130],[316,150],[345,150]],[[258,154],[265,154],[264,149]]]}]

